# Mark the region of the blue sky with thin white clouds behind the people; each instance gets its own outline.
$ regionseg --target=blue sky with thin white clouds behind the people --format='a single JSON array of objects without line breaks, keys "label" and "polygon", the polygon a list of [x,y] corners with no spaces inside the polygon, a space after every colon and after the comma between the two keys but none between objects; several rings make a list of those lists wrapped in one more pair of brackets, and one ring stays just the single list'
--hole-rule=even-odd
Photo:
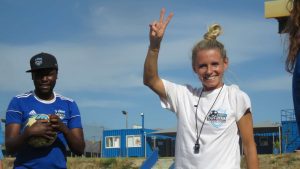
[{"label": "blue sky with thin white clouds behind the people", "polygon": [[162,78],[200,86],[191,49],[219,23],[230,61],[225,83],[250,96],[254,123],[280,121],[280,111],[292,108],[285,37],[275,19],[264,18],[262,0],[1,0],[1,118],[13,96],[33,89],[25,73],[31,56],[48,52],[59,62],[55,89],[77,102],[84,125],[124,128],[125,110],[129,126],[144,113],[147,128],[175,127],[175,115],[142,82],[148,25],[162,7],[174,12],[161,46]]}]

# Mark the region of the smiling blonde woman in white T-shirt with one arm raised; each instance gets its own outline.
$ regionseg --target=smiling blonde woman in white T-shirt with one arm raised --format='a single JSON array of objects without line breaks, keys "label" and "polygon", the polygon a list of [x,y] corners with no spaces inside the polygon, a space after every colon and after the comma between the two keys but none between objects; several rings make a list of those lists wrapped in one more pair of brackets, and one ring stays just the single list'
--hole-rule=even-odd
[{"label": "smiling blonde woman in white T-shirt with one arm raised", "polygon": [[160,97],[162,107],[177,117],[175,168],[240,168],[239,136],[248,168],[258,168],[250,99],[238,86],[223,83],[229,61],[223,44],[216,40],[220,25],[212,25],[192,50],[192,68],[201,86],[180,85],[159,77],[160,44],[172,16],[164,19],[162,9],[159,20],[150,24],[144,84]]}]

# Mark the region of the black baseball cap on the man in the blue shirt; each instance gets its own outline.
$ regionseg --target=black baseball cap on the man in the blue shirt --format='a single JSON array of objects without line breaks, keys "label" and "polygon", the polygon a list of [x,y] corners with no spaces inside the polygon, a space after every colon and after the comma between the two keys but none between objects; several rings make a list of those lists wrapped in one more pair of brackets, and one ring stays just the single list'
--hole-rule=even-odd
[{"label": "black baseball cap on the man in the blue shirt", "polygon": [[49,53],[39,53],[37,55],[32,56],[30,59],[30,70],[26,72],[33,72],[39,69],[57,69],[58,65],[55,56]]}]

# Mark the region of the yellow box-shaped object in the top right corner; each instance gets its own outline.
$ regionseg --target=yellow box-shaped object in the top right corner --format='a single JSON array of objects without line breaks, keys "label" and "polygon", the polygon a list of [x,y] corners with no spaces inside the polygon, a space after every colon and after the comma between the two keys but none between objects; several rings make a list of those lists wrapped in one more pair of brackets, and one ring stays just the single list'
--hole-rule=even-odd
[{"label": "yellow box-shaped object in the top right corner", "polygon": [[280,18],[290,15],[292,3],[289,0],[265,1],[265,18]]}]

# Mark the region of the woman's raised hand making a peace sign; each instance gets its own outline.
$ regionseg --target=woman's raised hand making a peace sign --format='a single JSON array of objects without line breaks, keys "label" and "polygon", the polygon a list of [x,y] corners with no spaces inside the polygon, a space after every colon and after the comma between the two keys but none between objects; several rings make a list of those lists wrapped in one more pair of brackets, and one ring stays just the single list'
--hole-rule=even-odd
[{"label": "woman's raised hand making a peace sign", "polygon": [[149,32],[149,39],[150,39],[150,47],[153,49],[159,49],[160,42],[164,36],[165,30],[173,17],[173,13],[171,12],[166,20],[164,20],[164,16],[166,13],[166,9],[162,8],[160,11],[159,21],[154,21],[150,24],[150,32]]}]

